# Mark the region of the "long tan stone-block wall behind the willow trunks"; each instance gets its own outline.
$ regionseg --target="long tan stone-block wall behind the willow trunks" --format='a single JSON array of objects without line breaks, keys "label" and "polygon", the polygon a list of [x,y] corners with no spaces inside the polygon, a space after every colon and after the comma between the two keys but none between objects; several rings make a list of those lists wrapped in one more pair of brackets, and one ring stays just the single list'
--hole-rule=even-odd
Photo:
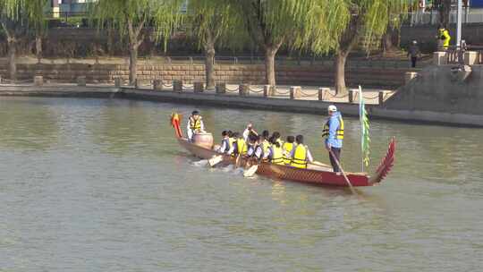
[{"label": "long tan stone-block wall behind the willow trunks", "polygon": [[[396,88],[404,82],[404,68],[348,68],[348,86]],[[31,80],[35,75],[45,81],[75,82],[86,76],[88,83],[112,83],[115,78],[129,79],[129,67],[125,64],[18,64],[18,80]],[[7,67],[0,64],[0,75],[7,77]],[[205,66],[199,64],[139,65],[138,80],[142,81],[205,81]],[[293,65],[276,67],[276,80],[280,85],[331,86],[334,84],[332,65]],[[264,65],[216,65],[216,81],[226,83],[263,84]]]}]

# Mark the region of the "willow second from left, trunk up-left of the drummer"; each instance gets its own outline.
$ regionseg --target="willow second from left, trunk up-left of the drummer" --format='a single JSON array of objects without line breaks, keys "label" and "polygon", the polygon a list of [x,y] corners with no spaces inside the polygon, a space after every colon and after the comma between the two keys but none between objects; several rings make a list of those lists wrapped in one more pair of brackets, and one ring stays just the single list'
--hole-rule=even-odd
[{"label": "willow second from left, trunk up-left of the drummer", "polygon": [[165,48],[177,22],[181,19],[182,0],[98,0],[91,5],[92,15],[100,28],[110,28],[127,38],[129,45],[129,82],[137,79],[140,45],[145,28],[154,31],[157,41],[163,39]]}]

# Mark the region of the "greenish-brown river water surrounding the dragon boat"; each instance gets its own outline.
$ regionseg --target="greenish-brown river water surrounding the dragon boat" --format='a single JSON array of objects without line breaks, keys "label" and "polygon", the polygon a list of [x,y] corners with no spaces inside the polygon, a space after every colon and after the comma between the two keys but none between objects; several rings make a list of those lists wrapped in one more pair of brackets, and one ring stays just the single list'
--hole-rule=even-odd
[{"label": "greenish-brown river water surrounding the dragon boat", "polygon": [[[328,161],[324,116],[199,109],[216,134],[302,133]],[[352,195],[208,169],[178,147],[174,110],[192,106],[2,98],[0,271],[481,270],[483,130],[372,121],[369,171],[391,136],[396,166]],[[343,166],[360,171],[345,123]]]}]

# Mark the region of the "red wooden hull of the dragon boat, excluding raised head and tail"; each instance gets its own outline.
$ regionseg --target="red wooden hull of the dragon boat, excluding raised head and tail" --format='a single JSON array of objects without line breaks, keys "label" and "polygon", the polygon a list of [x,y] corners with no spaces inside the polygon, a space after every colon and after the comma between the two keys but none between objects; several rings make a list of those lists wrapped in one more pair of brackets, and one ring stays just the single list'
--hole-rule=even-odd
[{"label": "red wooden hull of the dragon boat, excluding raised head and tail", "polygon": [[[178,142],[182,148],[188,150],[196,157],[209,159],[213,156],[220,155],[215,150],[199,147],[186,139],[178,138]],[[234,164],[234,158],[224,155],[224,160],[221,165],[227,166],[231,164]],[[244,164],[246,164],[246,162],[242,161],[242,165]],[[343,175],[337,175],[334,172],[300,169],[292,166],[277,166],[270,163],[261,163],[258,166],[257,174],[267,176],[269,178],[298,183],[312,183],[343,187],[348,186],[343,178]],[[347,174],[347,177],[354,187],[373,185],[373,183],[369,182],[369,176],[365,174]]]}]

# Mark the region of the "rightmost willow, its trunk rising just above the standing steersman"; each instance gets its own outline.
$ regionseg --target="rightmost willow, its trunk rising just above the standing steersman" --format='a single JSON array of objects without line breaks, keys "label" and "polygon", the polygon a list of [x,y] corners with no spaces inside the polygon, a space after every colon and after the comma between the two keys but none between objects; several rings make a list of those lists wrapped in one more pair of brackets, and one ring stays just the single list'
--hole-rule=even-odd
[{"label": "rightmost willow, its trunk rising just above the standing steersman", "polygon": [[[335,47],[335,91],[346,92],[345,63],[352,49],[360,42],[369,48],[380,40],[388,30],[388,26],[399,27],[394,18],[401,18],[411,6],[407,0],[333,0],[332,8],[326,9],[325,21],[329,21],[328,30],[337,38]],[[326,1],[321,1],[327,4]],[[322,7],[321,7],[322,8]],[[337,13],[337,16],[334,14]],[[331,25],[338,27],[330,27]],[[326,36],[317,31],[314,35],[312,49],[316,52],[326,50]]]}]

